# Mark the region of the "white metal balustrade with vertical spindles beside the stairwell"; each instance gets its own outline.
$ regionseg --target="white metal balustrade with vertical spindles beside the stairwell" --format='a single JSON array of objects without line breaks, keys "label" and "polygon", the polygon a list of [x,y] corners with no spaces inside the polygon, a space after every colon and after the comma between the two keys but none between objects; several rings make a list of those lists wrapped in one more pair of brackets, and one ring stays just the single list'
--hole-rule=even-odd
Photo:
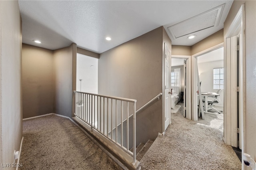
[{"label": "white metal balustrade with vertical spindles beside the stairwell", "polygon": [[[91,127],[91,130],[97,130],[106,138],[131,154],[133,156],[133,164],[135,164],[136,100],[79,91],[74,91],[74,95],[74,115],[88,124]],[[131,152],[129,148],[129,119],[127,118],[130,116],[133,117],[133,132],[131,136],[133,141],[133,152]],[[124,123],[124,120],[127,120],[127,122]],[[115,133],[113,133],[113,130]],[[110,134],[108,132],[110,132]],[[118,134],[120,134],[120,136],[118,136]],[[126,140],[123,140],[124,137]]]}]

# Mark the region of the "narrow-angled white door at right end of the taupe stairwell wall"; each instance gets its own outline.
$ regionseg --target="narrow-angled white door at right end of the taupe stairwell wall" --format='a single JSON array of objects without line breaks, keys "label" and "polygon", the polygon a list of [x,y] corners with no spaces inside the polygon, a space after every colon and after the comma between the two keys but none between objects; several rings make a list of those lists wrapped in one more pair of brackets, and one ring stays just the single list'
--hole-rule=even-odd
[{"label": "narrow-angled white door at right end of the taupe stairwell wall", "polygon": [[164,44],[164,131],[171,123],[170,65],[171,51]]}]

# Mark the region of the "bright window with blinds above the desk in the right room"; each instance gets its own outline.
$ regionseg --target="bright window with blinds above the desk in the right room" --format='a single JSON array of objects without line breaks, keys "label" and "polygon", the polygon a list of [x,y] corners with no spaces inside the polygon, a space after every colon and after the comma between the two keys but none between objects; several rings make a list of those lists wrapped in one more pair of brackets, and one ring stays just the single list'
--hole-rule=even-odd
[{"label": "bright window with blinds above the desk in the right room", "polygon": [[213,89],[224,89],[224,68],[213,69]]}]

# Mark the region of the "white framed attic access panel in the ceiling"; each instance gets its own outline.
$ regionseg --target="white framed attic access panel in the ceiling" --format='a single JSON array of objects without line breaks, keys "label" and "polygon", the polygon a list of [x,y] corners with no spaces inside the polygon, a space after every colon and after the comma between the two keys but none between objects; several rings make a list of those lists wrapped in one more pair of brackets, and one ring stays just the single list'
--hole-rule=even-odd
[{"label": "white framed attic access panel in the ceiling", "polygon": [[224,6],[225,4],[222,4],[212,10],[208,10],[202,14],[189,18],[188,20],[168,27],[173,40],[207,28],[218,26]]}]

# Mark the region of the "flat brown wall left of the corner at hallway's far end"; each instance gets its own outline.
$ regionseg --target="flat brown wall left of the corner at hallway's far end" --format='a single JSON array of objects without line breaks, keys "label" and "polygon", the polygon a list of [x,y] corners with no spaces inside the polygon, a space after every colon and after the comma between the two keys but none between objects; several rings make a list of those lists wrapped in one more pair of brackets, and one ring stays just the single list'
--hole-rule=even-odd
[{"label": "flat brown wall left of the corner at hallway's far end", "polygon": [[22,44],[23,118],[53,113],[53,51]]}]

